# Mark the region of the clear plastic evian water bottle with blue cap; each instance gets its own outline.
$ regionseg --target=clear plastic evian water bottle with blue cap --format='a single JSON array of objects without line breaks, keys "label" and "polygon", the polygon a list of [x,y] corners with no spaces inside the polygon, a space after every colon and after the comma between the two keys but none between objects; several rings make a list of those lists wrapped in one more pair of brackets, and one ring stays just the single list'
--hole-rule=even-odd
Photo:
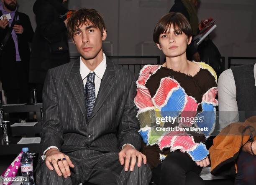
[{"label": "clear plastic evian water bottle with blue cap", "polygon": [[20,158],[21,175],[24,178],[23,185],[34,185],[33,160],[28,153],[28,148],[22,148],[23,154]]}]

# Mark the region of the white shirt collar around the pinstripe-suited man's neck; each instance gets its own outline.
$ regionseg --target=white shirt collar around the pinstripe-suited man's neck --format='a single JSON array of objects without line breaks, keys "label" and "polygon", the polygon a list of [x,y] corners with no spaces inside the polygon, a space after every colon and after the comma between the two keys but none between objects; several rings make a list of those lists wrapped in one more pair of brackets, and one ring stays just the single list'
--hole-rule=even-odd
[{"label": "white shirt collar around the pinstripe-suited man's neck", "polygon": [[97,77],[99,77],[102,80],[102,77],[104,75],[104,72],[107,68],[107,62],[106,62],[106,56],[103,53],[103,60],[100,62],[100,64],[95,68],[94,71],[91,71],[82,61],[82,58],[80,57],[80,74],[82,76],[82,80],[84,80],[84,78],[87,77],[87,75],[90,72],[95,72],[95,74],[97,75]]}]

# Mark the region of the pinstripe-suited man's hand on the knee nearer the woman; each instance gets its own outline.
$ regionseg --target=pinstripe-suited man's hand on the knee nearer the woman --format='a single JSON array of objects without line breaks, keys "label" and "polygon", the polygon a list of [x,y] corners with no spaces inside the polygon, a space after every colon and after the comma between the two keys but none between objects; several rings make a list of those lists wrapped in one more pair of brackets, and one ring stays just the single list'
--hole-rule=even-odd
[{"label": "pinstripe-suited man's hand on the knee nearer the woman", "polygon": [[146,155],[143,155],[141,152],[139,152],[138,150],[136,150],[135,148],[129,145],[125,146],[118,155],[119,155],[120,164],[121,165],[125,164],[124,169],[126,172],[129,169],[130,161],[131,161],[130,171],[133,171],[137,158],[138,158],[138,163],[137,163],[138,167],[141,167],[142,159],[145,165],[147,163]]}]

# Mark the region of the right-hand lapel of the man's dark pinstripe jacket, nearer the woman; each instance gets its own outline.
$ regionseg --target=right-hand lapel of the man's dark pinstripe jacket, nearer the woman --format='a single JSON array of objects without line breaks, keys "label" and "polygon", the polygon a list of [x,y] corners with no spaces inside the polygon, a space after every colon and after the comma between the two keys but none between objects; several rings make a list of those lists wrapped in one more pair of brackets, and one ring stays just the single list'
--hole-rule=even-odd
[{"label": "right-hand lapel of the man's dark pinstripe jacket, nearer the woman", "polygon": [[92,110],[92,115],[90,117],[90,120],[99,111],[100,107],[102,107],[102,105],[110,95],[110,92],[114,87],[114,83],[113,83],[114,76],[115,76],[115,70],[114,70],[113,62],[107,58],[107,68],[100,82],[100,89]]}]

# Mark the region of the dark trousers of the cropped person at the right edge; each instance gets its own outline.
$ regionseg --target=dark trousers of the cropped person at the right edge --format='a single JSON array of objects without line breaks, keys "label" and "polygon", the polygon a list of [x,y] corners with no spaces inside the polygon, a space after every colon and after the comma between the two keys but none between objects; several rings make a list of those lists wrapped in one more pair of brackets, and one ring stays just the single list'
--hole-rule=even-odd
[{"label": "dark trousers of the cropped person at the right edge", "polygon": [[241,151],[237,160],[235,185],[256,185],[256,155]]}]

